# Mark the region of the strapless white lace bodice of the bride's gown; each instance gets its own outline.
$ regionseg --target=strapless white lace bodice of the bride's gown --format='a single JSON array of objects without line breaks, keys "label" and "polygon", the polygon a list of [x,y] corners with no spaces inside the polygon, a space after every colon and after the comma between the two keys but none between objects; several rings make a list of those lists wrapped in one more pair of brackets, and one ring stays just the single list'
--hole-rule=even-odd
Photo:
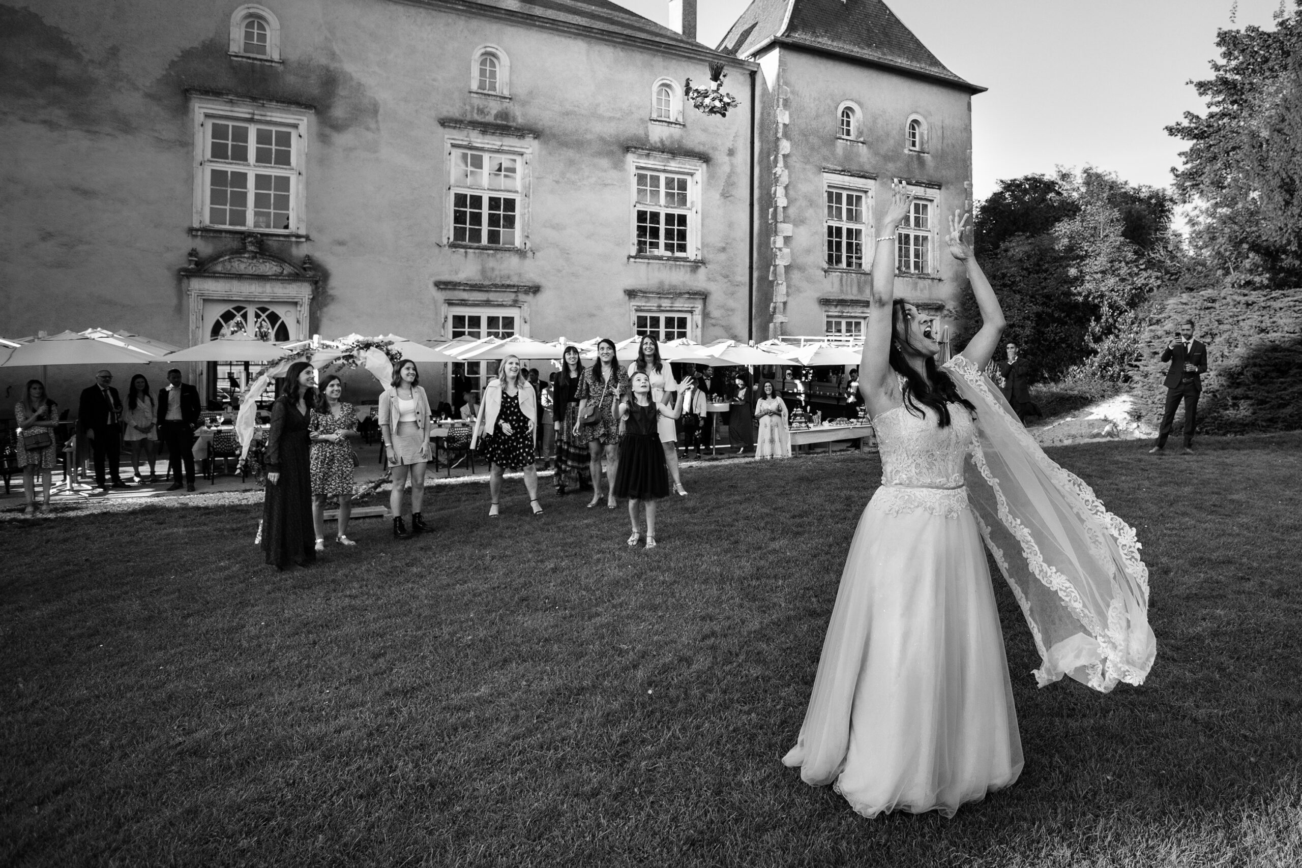
[{"label": "strapless white lace bodice of the bride's gown", "polygon": [[963,484],[963,461],[973,444],[973,420],[967,409],[949,406],[950,423],[941,428],[936,414],[918,405],[926,416],[909,407],[887,410],[872,420],[881,452],[883,485],[957,488]]}]

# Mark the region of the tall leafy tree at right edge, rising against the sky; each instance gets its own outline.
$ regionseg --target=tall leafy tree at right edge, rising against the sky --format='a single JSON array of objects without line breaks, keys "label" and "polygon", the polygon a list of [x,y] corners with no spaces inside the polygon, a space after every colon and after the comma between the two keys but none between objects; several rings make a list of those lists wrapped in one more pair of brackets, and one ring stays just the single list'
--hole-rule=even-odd
[{"label": "tall leafy tree at right edge, rising against the sky", "polygon": [[1302,0],[1275,30],[1220,30],[1212,78],[1194,82],[1207,113],[1167,128],[1189,142],[1176,194],[1190,236],[1232,285],[1302,281]]}]

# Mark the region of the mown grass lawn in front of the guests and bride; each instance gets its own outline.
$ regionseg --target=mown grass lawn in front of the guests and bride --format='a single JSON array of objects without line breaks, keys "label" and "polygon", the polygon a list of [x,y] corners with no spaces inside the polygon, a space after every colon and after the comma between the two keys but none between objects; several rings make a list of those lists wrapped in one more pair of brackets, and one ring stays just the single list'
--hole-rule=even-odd
[{"label": "mown grass lawn in front of the guests and bride", "polygon": [[4,865],[1297,865],[1302,435],[1051,454],[1137,526],[1157,662],[1035,688],[1026,769],[859,817],[779,757],[875,455],[700,467],[626,511],[439,488],[436,532],[277,574],[255,508],[0,523]]}]

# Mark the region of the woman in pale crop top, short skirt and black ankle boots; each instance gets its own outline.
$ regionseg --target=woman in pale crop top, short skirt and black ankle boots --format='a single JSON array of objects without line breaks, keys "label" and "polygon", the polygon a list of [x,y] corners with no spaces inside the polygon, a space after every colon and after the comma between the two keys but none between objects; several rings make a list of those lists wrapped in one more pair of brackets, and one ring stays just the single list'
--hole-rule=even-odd
[{"label": "woman in pale crop top, short skirt and black ankle boots", "polygon": [[[380,393],[380,437],[393,474],[389,514],[393,536],[409,539],[430,527],[421,517],[424,502],[424,466],[430,461],[430,400],[421,388],[415,362],[402,359],[393,368],[392,385]],[[411,530],[402,522],[402,489],[411,480]]]}]

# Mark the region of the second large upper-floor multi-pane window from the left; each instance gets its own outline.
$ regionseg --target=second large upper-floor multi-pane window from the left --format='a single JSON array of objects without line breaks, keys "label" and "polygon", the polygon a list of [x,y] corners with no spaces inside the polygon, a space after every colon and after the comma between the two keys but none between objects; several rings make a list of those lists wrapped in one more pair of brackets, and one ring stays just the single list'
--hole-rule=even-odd
[{"label": "second large upper-floor multi-pane window from the left", "polygon": [[453,150],[452,241],[517,247],[519,169],[516,154]]}]

